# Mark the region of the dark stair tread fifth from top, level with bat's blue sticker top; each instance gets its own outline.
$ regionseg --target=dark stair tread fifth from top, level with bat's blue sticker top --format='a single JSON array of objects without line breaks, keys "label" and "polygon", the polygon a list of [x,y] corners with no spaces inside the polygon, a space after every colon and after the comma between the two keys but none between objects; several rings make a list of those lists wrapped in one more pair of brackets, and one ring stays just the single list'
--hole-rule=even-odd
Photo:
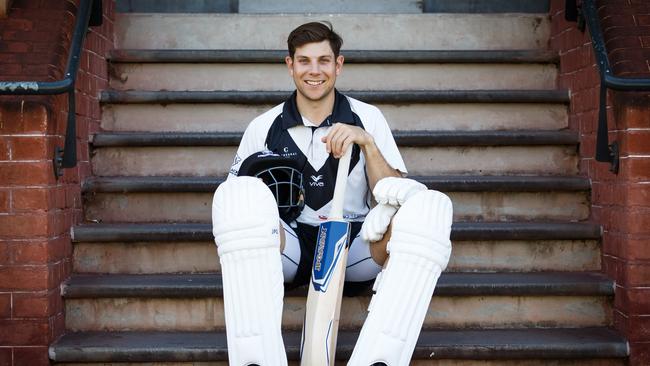
[{"label": "dark stair tread fifth from top, level with bat's blue sticker top", "polygon": [[[597,240],[601,226],[590,223],[474,223],[452,225],[452,240]],[[212,225],[190,223],[84,224],[73,227],[74,242],[212,241]]]}]

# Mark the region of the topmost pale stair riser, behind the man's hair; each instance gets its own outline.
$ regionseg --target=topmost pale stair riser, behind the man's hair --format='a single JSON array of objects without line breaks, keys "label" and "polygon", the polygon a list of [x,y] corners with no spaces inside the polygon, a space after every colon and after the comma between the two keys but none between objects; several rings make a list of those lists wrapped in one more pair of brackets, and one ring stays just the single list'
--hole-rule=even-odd
[{"label": "topmost pale stair riser, behind the man's hair", "polygon": [[[474,50],[545,48],[550,21],[513,14],[118,14],[116,48],[286,49],[300,24],[329,20],[344,49]],[[264,31],[260,31],[264,24]]]}]

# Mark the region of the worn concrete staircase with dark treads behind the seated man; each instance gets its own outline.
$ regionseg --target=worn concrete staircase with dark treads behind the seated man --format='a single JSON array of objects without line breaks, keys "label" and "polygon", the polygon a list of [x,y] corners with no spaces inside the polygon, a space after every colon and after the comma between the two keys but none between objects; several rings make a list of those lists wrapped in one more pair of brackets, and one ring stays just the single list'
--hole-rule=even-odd
[{"label": "worn concrete staircase with dark treads behind the seated man", "polygon": [[[410,176],[454,203],[412,365],[625,363],[545,15],[118,15],[53,362],[227,364],[212,192],[247,123],[292,90],[288,32],[328,19],[339,89],[380,107]],[[370,296],[344,299],[341,364]],[[285,297],[292,364],[305,298]]]}]

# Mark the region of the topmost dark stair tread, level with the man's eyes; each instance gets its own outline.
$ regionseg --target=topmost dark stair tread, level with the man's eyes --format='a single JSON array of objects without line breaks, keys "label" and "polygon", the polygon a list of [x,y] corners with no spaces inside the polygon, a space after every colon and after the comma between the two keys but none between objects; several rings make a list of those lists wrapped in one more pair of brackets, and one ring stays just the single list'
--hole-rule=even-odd
[{"label": "topmost dark stair tread, level with the man's eyes", "polygon": [[[112,63],[278,63],[284,64],[287,50],[111,50]],[[429,63],[559,63],[548,50],[344,50],[345,64],[429,64]]]}]

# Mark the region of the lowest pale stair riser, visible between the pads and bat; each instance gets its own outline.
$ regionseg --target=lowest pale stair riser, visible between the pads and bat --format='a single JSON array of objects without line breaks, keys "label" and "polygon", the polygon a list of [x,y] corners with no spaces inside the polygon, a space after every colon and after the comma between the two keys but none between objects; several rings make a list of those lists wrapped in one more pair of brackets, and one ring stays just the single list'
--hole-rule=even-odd
[{"label": "lowest pale stair riser, visible between the pads and bat", "polygon": [[[360,329],[370,297],[346,297],[340,329]],[[68,299],[66,328],[84,330],[213,331],[225,329],[221,298]],[[424,328],[529,328],[609,325],[609,300],[574,296],[433,297]],[[283,327],[302,327],[305,298],[284,300]]]}]

